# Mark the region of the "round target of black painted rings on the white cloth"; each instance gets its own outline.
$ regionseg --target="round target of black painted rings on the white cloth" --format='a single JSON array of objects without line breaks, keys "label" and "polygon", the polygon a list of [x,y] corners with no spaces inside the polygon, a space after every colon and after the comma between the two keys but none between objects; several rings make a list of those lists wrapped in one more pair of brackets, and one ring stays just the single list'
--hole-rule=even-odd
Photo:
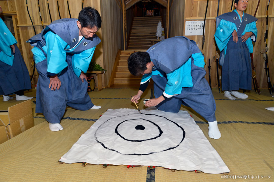
[{"label": "round target of black painted rings on the white cloth", "polygon": [[[105,128],[109,129],[107,133]],[[176,137],[169,137],[173,133]],[[171,150],[178,147],[184,137],[184,129],[177,123],[163,116],[140,113],[111,118],[95,132],[97,142],[105,149],[126,155],[149,155]]]}]

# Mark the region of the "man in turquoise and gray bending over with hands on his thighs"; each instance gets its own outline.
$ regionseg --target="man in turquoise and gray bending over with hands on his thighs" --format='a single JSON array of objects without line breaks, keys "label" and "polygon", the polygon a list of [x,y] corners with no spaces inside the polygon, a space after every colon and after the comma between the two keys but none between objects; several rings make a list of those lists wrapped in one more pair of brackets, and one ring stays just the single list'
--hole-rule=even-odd
[{"label": "man in turquoise and gray bending over with hands on his thighs", "polygon": [[27,42],[39,73],[36,113],[43,113],[51,131],[63,130],[61,118],[66,106],[77,110],[99,109],[87,93],[86,72],[101,27],[99,12],[91,7],[80,11],[78,19],[59,19],[47,25]]}]

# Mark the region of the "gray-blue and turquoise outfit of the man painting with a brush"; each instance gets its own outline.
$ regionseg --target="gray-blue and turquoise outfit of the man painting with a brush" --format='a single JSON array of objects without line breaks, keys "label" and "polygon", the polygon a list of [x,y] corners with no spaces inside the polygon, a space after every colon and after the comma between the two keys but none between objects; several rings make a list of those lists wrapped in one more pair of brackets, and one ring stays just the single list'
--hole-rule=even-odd
[{"label": "gray-blue and turquoise outfit of the man painting with a brush", "polygon": [[152,78],[155,97],[162,94],[167,97],[156,107],[177,113],[184,104],[206,120],[215,121],[215,101],[204,78],[204,56],[196,43],[184,36],[172,37],[153,45],[147,52],[154,67],[151,73],[143,75],[141,84]]}]

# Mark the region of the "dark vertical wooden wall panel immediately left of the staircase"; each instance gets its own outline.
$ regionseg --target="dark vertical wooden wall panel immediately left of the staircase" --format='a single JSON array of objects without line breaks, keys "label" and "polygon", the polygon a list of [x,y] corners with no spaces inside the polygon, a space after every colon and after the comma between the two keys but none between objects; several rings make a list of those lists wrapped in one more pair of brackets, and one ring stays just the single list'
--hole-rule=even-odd
[{"label": "dark vertical wooden wall panel immediately left of the staircase", "polygon": [[[104,86],[107,86],[117,51],[123,47],[123,15],[121,0],[105,1],[101,0],[101,17],[102,17],[102,44],[104,56],[105,73]],[[103,66],[102,66],[103,67]]]}]

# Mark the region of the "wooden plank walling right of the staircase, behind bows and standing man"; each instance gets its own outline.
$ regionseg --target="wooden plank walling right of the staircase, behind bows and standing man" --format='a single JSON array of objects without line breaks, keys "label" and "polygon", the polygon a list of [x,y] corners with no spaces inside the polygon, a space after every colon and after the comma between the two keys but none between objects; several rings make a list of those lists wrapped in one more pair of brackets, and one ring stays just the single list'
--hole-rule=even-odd
[{"label": "wooden plank walling right of the staircase, behind bows and standing man", "polygon": [[[195,20],[203,20],[205,11],[206,11],[206,0],[187,0],[184,1],[184,5],[182,1],[174,0],[171,1],[170,5],[170,37],[184,35],[184,24],[185,21],[195,21]],[[257,81],[260,88],[267,88],[266,75],[265,75],[265,64],[260,53],[261,49],[264,49],[265,42],[263,39],[263,34],[265,32],[265,15],[266,15],[266,6],[268,0],[261,0],[259,9],[256,17],[257,21],[257,29],[258,36],[257,42],[254,43],[254,65],[257,74]],[[249,1],[248,8],[246,13],[254,15],[255,9],[257,6],[258,0]],[[216,13],[217,13],[217,0],[210,0],[207,11],[207,19],[205,25],[205,43],[204,43],[204,51],[206,61],[210,59],[211,62],[211,83],[212,87],[217,87],[217,78],[216,78],[216,62],[214,56],[216,54],[215,49],[215,40],[214,33],[216,29]],[[184,8],[185,7],[185,8]],[[220,9],[219,15],[230,12],[231,0],[220,0]],[[233,8],[234,9],[234,8]],[[182,20],[183,19],[183,20]],[[182,22],[183,21],[183,22]],[[269,69],[270,69],[270,79],[273,84],[273,1],[270,1],[269,4],[269,36],[268,36],[268,58],[269,58]],[[195,40],[198,47],[202,50],[202,35],[199,36],[188,36],[188,38]],[[208,64],[205,65],[205,69],[207,71],[206,79],[208,80]],[[220,73],[219,67],[219,73]]]}]

